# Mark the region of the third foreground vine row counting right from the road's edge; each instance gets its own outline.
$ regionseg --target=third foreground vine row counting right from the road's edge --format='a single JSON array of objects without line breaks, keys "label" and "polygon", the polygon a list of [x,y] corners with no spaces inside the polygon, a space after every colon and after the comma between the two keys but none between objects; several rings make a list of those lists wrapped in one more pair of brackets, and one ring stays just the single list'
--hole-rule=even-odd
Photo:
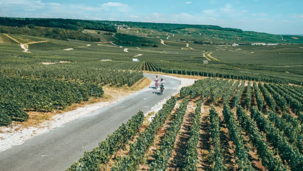
[{"label": "third foreground vine row counting right from the road's edge", "polygon": [[151,163],[149,171],[161,171],[167,169],[167,164],[171,157],[171,150],[174,148],[176,137],[180,132],[187,104],[188,98],[183,99],[175,114],[175,119],[171,122],[171,125],[166,131],[165,137],[161,142],[160,149],[156,152],[155,161]]}]

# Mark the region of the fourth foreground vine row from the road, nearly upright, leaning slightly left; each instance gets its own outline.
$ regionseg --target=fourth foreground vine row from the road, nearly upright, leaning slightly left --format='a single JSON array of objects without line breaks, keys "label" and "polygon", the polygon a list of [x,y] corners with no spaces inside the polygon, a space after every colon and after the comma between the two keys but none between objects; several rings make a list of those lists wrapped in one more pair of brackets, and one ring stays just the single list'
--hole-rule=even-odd
[{"label": "fourth foreground vine row from the road, nearly upright, leaning slightly left", "polygon": [[187,150],[185,157],[185,164],[182,167],[183,171],[196,171],[198,163],[198,142],[200,140],[200,119],[201,119],[201,105],[203,99],[197,102],[194,119],[191,124],[189,138],[187,142]]}]

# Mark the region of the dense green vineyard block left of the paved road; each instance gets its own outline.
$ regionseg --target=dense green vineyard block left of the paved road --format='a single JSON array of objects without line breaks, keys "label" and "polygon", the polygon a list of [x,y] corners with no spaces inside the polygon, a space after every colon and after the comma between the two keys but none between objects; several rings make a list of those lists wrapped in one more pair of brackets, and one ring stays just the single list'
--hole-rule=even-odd
[{"label": "dense green vineyard block left of the paved road", "polygon": [[[0,124],[26,121],[26,111],[51,112],[65,109],[72,103],[88,101],[92,97],[103,97],[102,86],[106,84],[132,86],[144,78],[142,72],[114,70],[84,70],[67,75],[37,72],[28,76],[26,71],[16,75],[0,76]],[[89,74],[91,73],[91,74]],[[93,77],[93,74],[95,77]]]}]

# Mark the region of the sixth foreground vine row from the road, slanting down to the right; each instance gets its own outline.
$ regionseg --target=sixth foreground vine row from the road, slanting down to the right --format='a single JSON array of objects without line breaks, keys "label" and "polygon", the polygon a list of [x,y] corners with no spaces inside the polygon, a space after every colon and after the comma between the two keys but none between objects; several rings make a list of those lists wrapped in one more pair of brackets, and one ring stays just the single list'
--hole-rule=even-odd
[{"label": "sixth foreground vine row from the road, slanting down to the right", "polygon": [[[244,85],[244,83],[242,83],[242,85]],[[236,163],[239,167],[239,170],[254,171],[255,169],[252,168],[251,162],[248,159],[248,150],[245,149],[243,143],[240,125],[238,122],[236,122],[235,115],[233,112],[231,112],[227,103],[224,103],[223,116],[228,128],[229,137],[236,146],[235,156],[237,157]]]}]

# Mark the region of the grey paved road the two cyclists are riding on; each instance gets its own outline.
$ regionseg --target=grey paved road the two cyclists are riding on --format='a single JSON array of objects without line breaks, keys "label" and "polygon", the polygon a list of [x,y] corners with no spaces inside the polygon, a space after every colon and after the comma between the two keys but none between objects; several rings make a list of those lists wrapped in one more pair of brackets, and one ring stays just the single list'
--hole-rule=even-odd
[{"label": "grey paved road the two cyclists are riding on", "polygon": [[[154,80],[155,75],[144,74]],[[162,77],[160,77],[162,78]],[[164,77],[165,93],[159,96],[154,82],[119,102],[69,122],[57,129],[37,136],[25,143],[0,152],[0,170],[3,171],[64,171],[85,150],[92,150],[127,122],[139,110],[148,112],[156,103],[176,91],[181,81]]]}]

